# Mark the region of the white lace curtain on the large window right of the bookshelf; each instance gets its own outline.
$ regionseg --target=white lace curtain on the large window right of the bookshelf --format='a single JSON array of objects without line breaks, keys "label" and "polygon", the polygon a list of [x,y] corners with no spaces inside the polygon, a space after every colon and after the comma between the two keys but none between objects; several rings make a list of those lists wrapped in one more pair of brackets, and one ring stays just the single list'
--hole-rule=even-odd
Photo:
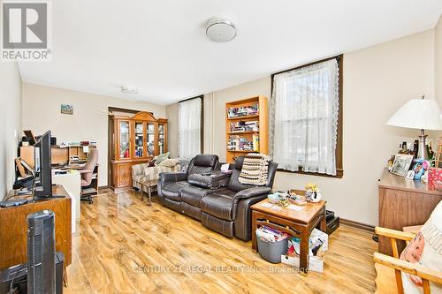
[{"label": "white lace curtain on the large window right of the bookshelf", "polygon": [[336,59],[275,75],[270,110],[271,155],[279,168],[336,175]]}]

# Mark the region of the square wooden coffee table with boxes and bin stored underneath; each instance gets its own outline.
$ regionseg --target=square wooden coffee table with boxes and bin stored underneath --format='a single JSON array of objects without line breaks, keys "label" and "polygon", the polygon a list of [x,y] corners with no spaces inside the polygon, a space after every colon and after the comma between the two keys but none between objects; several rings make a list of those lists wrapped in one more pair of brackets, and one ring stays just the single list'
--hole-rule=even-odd
[{"label": "square wooden coffee table with boxes and bin stored underneath", "polygon": [[[300,248],[300,274],[309,273],[309,237],[311,231],[319,227],[319,230],[325,232],[325,203],[308,202],[297,211],[284,207],[281,210],[275,210],[272,207],[263,207],[263,204],[270,203],[269,200],[262,200],[255,203],[252,208],[252,249],[257,252],[255,230],[263,225],[273,229],[286,232],[293,237],[301,238]],[[277,204],[274,204],[277,206]],[[298,207],[298,206],[297,206]]]}]

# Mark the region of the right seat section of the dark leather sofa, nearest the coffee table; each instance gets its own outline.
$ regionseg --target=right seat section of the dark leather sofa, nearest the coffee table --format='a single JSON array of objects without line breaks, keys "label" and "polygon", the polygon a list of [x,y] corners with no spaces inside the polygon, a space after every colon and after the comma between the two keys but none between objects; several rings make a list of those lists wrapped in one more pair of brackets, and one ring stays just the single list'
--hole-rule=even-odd
[{"label": "right seat section of the dark leather sofa, nearest the coffee table", "polygon": [[227,236],[248,241],[252,234],[250,207],[264,200],[271,192],[278,163],[270,162],[267,185],[244,185],[238,180],[244,157],[234,163],[232,176],[225,188],[214,190],[202,197],[202,224]]}]

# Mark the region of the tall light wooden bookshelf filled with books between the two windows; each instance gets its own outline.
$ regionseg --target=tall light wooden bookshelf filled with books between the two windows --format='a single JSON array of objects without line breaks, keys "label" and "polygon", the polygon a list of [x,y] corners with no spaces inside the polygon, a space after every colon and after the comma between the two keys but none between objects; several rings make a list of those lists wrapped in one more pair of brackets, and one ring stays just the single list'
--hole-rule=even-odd
[{"label": "tall light wooden bookshelf filled with books between the two windows", "polygon": [[[256,107],[257,113],[253,110]],[[235,112],[229,109],[240,110]],[[259,95],[227,102],[225,103],[225,117],[227,162],[234,162],[236,157],[248,153],[269,154],[269,109],[266,97]]]}]

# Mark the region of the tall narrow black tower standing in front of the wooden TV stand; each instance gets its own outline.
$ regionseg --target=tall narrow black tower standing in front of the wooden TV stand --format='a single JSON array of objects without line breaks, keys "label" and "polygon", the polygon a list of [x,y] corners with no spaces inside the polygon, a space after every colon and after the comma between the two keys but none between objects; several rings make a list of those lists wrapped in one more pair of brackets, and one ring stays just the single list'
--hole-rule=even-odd
[{"label": "tall narrow black tower standing in front of the wooden TV stand", "polygon": [[27,215],[27,293],[56,292],[55,214],[42,210]]}]

